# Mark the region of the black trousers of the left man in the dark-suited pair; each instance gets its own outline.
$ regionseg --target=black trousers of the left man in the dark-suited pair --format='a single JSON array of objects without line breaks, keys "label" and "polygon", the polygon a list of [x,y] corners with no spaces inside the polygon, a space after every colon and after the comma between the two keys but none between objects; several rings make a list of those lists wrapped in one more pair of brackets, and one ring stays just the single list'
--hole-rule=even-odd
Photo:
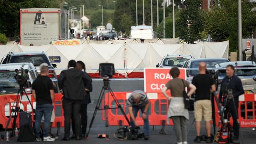
[{"label": "black trousers of the left man in the dark-suited pair", "polygon": [[70,100],[67,98],[63,98],[63,110],[64,110],[64,131],[65,138],[69,138],[70,136],[70,120],[74,118],[74,132],[76,137],[80,136],[81,133],[81,119],[80,119],[80,109],[81,109],[82,100]]}]

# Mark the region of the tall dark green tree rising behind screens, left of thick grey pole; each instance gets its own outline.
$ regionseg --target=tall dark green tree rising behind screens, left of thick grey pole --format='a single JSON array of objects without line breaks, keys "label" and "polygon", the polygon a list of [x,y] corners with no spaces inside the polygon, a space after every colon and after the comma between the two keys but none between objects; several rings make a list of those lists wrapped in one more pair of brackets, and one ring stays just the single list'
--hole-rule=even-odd
[{"label": "tall dark green tree rising behind screens, left of thick grey pole", "polygon": [[180,38],[192,44],[201,38],[200,33],[204,30],[204,18],[201,14],[202,11],[199,9],[202,0],[186,0],[184,4],[187,8],[180,13],[177,27]]}]

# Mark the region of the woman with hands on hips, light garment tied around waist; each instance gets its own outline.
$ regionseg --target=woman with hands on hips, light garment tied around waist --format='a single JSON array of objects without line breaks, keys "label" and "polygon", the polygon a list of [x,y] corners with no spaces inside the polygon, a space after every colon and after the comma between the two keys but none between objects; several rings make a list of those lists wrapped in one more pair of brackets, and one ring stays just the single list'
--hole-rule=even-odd
[{"label": "woman with hands on hips, light garment tied around waist", "polygon": [[[173,77],[167,82],[165,87],[162,89],[163,95],[171,100],[169,104],[169,110],[167,118],[173,119],[174,129],[176,133],[177,143],[176,144],[187,144],[187,127],[186,122],[189,120],[188,110],[184,106],[183,92],[185,87],[189,87],[190,90],[187,96],[190,96],[197,89],[195,85],[189,83],[184,79],[178,78],[180,70],[177,67],[173,67],[170,70],[170,74]],[[167,95],[166,91],[171,90],[171,97]]]}]

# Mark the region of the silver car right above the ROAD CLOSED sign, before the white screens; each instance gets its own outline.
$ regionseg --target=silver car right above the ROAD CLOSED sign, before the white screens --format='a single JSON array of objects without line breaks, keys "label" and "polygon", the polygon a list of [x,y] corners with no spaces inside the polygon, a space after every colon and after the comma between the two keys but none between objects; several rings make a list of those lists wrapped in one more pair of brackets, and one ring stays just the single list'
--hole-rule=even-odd
[{"label": "silver car right above the ROAD CLOSED sign, before the white screens", "polygon": [[182,67],[183,63],[185,61],[188,61],[190,59],[195,59],[192,55],[169,55],[167,54],[165,57],[163,57],[161,63],[157,64],[156,67],[165,68],[165,67]]}]

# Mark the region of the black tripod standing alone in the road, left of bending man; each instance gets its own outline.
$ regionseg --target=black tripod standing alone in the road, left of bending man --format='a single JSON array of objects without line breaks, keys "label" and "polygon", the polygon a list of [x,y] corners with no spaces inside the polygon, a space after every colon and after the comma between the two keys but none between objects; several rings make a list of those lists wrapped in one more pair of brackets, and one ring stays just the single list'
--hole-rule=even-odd
[{"label": "black tripod standing alone in the road, left of bending man", "polygon": [[[122,114],[123,114],[123,116],[124,116],[124,118],[128,122],[129,126],[131,125],[128,117],[126,116],[126,114],[124,113],[124,110],[122,109],[122,106],[120,105],[120,103],[118,102],[117,98],[115,97],[115,94],[113,93],[112,89],[110,88],[109,81],[110,81],[109,78],[103,78],[104,86],[101,89],[100,96],[98,98],[98,101],[97,101],[97,104],[96,104],[96,107],[95,107],[95,110],[94,110],[94,113],[93,113],[93,117],[92,117],[90,125],[89,125],[89,131],[88,131],[88,133],[86,135],[86,138],[88,138],[88,135],[90,133],[91,127],[93,125],[93,121],[95,119],[95,116],[96,116],[96,113],[97,113],[98,110],[106,110],[106,111],[108,111],[108,109],[120,109]],[[117,107],[109,107],[108,105],[105,105],[104,108],[100,108],[100,103],[102,102],[102,99],[104,97],[105,90],[110,92],[110,95],[112,96],[112,98],[114,99],[115,103],[117,104]],[[107,115],[107,113],[106,113],[106,115]],[[108,122],[108,120],[106,120],[106,122]],[[106,124],[106,127],[108,127],[108,124]],[[108,136],[106,138],[108,138]]]}]

